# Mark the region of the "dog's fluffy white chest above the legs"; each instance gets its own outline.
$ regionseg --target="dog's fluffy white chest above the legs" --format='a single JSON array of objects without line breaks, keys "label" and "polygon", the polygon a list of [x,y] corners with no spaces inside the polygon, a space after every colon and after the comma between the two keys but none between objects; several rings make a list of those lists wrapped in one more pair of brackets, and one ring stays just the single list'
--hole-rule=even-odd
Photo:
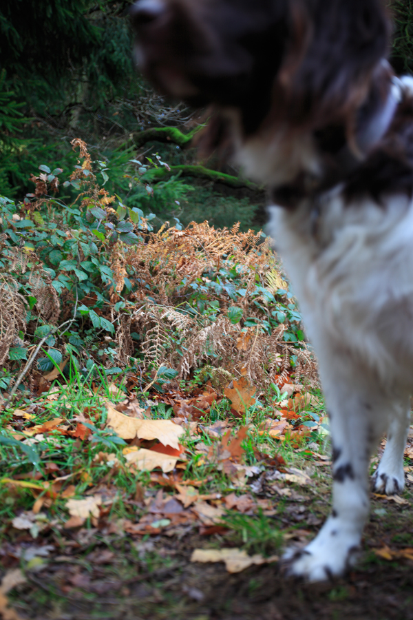
[{"label": "dog's fluffy white chest above the legs", "polygon": [[379,379],[413,380],[413,203],[392,197],[347,205],[270,207],[269,232],[299,300],[317,355],[350,355]]}]

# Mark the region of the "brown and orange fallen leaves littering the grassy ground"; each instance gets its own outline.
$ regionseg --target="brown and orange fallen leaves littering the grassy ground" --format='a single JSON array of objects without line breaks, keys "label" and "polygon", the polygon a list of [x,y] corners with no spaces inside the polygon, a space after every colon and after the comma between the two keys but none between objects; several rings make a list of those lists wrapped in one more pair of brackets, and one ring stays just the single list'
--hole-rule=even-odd
[{"label": "brown and orange fallen leaves littering the grassy ground", "polygon": [[[221,395],[208,384],[198,393],[195,389],[193,396],[169,386],[163,394],[151,394],[146,403],[135,393],[126,398],[123,393],[121,402],[98,397],[76,415],[66,415],[63,408],[60,415],[45,419],[47,412],[56,411],[54,403],[59,401],[54,400],[57,392],[52,389],[50,395],[43,393],[48,409],[42,409],[41,401],[36,409],[15,409],[6,428],[16,442],[33,442],[29,445],[39,453],[41,468],[30,471],[26,467],[25,473],[1,479],[1,486],[10,493],[32,496],[27,508],[10,519],[14,532],[28,537],[31,545],[17,537],[6,557],[23,559],[26,570],[32,570],[30,561],[34,561],[34,570],[56,557],[70,560],[70,555],[57,555],[50,538],[52,529],[66,536],[73,533],[70,537],[74,540],[88,539],[96,531],[137,541],[159,535],[180,540],[198,530],[206,540],[224,536],[224,541],[219,538],[219,549],[193,549],[193,563],[224,562],[226,570],[235,573],[277,561],[274,552],[262,555],[235,544],[228,547],[228,536],[237,531],[235,515],[239,515],[247,519],[240,526],[242,541],[246,541],[248,519],[275,517],[281,499],[290,502],[288,514],[299,523],[304,497],[296,488],[313,493],[315,470],[329,465],[329,455],[321,453],[326,418],[319,413],[319,402],[314,404],[301,384],[284,385],[288,387],[282,391],[281,386],[280,392],[288,398],[271,409],[263,408],[257,390],[243,377],[229,382]],[[115,388],[112,393],[116,394]],[[160,403],[170,407],[169,419],[153,417]],[[220,417],[214,420],[217,411]],[[311,441],[318,430],[319,440]],[[100,438],[102,445],[96,441]],[[109,445],[105,446],[105,440]],[[79,455],[90,453],[96,443],[98,449],[90,453],[88,464],[67,466],[57,456],[63,454],[64,442],[71,442],[70,449]],[[408,444],[407,458],[412,449]],[[293,454],[301,459],[300,467],[295,466],[295,459],[288,463]],[[309,468],[303,467],[306,462],[310,462]],[[118,476],[129,476],[129,481],[134,477],[136,482],[118,486]],[[399,496],[385,499],[398,506],[408,503]],[[123,515],[116,511],[118,502],[127,507]],[[50,509],[57,513],[48,512]],[[280,521],[277,524],[282,525]],[[285,539],[304,541],[308,535],[310,530],[284,530]],[[109,555],[100,561],[96,552],[90,561],[110,564],[112,552],[104,551]],[[412,560],[410,547],[392,550],[384,546],[376,553],[385,560]],[[100,587],[81,574],[68,576],[67,584],[67,588]],[[6,617],[6,593],[2,591],[1,596],[0,611]],[[19,616],[10,616],[14,618]]]}]

